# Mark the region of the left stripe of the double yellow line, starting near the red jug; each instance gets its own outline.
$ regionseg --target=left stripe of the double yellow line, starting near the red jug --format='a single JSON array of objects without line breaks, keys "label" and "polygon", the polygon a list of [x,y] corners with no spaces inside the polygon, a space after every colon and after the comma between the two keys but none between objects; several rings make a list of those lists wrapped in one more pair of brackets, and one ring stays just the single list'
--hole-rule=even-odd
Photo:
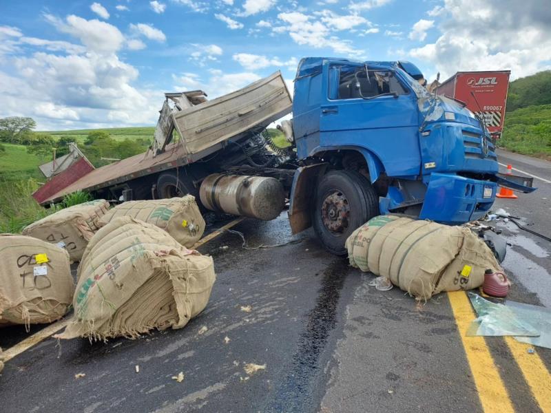
[{"label": "left stripe of the double yellow line, starting near the red jug", "polygon": [[484,412],[514,412],[484,337],[466,336],[470,322],[476,317],[467,295],[464,291],[454,291],[448,293],[448,298]]}]

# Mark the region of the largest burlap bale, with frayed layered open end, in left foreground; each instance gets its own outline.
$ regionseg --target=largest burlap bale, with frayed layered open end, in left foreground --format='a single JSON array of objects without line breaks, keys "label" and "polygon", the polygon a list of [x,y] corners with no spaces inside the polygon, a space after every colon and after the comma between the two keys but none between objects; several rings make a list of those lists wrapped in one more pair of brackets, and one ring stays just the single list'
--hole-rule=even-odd
[{"label": "largest burlap bale, with frayed layered open end, in left foreground", "polygon": [[131,217],[114,218],[88,244],[62,339],[138,337],[182,328],[207,305],[216,275],[211,257]]}]

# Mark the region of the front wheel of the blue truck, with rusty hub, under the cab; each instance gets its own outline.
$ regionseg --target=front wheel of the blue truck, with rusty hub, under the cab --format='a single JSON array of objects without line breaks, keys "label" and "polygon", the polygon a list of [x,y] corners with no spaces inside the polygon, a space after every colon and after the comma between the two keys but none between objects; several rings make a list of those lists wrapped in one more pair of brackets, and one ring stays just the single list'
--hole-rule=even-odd
[{"label": "front wheel of the blue truck, with rusty hub, under the cab", "polygon": [[379,215],[379,198],[360,173],[331,171],[320,181],[312,222],[329,252],[346,255],[346,238],[376,215]]}]

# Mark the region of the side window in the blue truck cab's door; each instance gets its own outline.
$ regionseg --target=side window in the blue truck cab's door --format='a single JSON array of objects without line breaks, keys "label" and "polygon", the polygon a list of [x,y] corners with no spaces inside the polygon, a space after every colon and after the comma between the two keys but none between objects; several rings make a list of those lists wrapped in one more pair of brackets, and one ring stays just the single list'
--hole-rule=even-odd
[{"label": "side window in the blue truck cab's door", "polygon": [[331,93],[331,98],[374,98],[386,93],[408,93],[391,70],[367,70],[366,73],[364,67],[337,66],[335,69],[339,72],[338,89],[336,94]]}]

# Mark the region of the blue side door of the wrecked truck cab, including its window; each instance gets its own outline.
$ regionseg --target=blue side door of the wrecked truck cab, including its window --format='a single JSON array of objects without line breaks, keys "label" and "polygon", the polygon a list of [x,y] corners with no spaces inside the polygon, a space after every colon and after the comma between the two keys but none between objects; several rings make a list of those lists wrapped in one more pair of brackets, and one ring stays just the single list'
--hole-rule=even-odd
[{"label": "blue side door of the wrecked truck cab, including its window", "polygon": [[324,65],[320,147],[362,147],[388,176],[419,175],[417,98],[394,70],[355,63]]}]

